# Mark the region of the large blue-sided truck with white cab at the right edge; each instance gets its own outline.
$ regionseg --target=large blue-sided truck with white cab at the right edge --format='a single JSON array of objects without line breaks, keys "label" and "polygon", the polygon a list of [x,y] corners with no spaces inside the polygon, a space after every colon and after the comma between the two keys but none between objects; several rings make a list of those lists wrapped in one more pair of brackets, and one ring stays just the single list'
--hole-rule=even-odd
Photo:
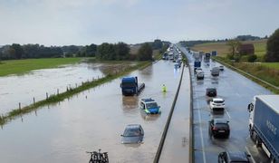
[{"label": "large blue-sided truck with white cab at the right edge", "polygon": [[248,105],[250,138],[265,150],[270,162],[279,161],[278,106],[279,95],[257,95]]}]

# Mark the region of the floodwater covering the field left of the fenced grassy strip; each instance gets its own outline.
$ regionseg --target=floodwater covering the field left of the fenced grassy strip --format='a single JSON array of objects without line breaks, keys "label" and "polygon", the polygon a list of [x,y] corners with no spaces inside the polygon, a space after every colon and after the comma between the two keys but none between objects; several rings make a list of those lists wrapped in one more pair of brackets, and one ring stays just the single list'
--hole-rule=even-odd
[{"label": "floodwater covering the field left of the fenced grassy strip", "polygon": [[106,63],[82,62],[61,68],[36,70],[23,75],[0,77],[0,114],[18,109],[35,101],[41,101],[48,95],[66,91],[67,87],[76,87],[82,82],[92,81],[106,74]]}]

